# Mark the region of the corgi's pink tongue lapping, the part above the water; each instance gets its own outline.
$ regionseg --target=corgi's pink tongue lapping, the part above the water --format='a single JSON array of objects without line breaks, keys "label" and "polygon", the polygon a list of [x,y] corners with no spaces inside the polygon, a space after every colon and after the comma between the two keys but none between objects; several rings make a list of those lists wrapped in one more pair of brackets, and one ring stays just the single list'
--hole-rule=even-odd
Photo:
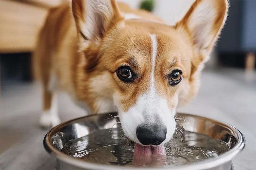
[{"label": "corgi's pink tongue lapping, the part above the water", "polygon": [[144,156],[155,156],[155,155],[166,155],[164,146],[142,146],[135,144],[134,155],[144,155]]}]

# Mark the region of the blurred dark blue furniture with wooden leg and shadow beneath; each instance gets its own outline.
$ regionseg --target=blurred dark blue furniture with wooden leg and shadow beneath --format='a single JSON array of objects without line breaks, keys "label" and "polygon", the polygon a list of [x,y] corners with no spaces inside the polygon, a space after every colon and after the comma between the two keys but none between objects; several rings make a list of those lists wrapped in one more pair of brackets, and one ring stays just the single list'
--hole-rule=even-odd
[{"label": "blurred dark blue furniture with wooden leg and shadow beneath", "polygon": [[255,68],[255,0],[230,0],[227,23],[216,49],[222,66]]}]

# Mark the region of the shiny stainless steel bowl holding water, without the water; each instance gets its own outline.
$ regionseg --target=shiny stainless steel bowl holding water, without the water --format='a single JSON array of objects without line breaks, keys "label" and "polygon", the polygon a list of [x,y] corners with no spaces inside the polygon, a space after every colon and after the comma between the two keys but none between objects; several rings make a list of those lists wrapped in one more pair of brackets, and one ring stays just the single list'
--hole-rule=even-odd
[{"label": "shiny stainless steel bowl holding water, without the water", "polygon": [[[204,118],[196,115],[178,113],[177,116],[186,118],[183,124],[190,132],[207,134],[210,137],[225,141],[230,151],[217,158],[206,159],[201,162],[183,165],[179,167],[122,167],[113,165],[102,165],[84,162],[72,158],[61,152],[61,149],[69,140],[81,138],[97,129],[110,129],[116,123],[117,113],[98,114],[85,116],[64,122],[51,129],[44,138],[44,147],[52,156],[56,158],[56,170],[113,170],[113,169],[172,169],[172,170],[233,170],[232,159],[243,150],[245,138],[241,132],[233,126]],[[114,119],[114,120],[113,120]]]}]

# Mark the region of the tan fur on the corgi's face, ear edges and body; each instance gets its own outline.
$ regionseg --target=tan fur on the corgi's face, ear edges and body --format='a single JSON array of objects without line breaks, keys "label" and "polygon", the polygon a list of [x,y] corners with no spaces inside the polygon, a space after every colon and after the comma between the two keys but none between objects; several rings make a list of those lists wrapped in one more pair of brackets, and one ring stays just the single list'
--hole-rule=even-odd
[{"label": "tan fur on the corgi's face, ear edges and body", "polygon": [[[189,101],[198,91],[200,70],[221,30],[227,13],[227,2],[216,0],[217,15],[209,46],[198,47],[187,23],[198,4],[197,0],[185,17],[175,26],[146,12],[133,10],[111,0],[112,14],[104,16],[99,36],[88,40],[83,34],[87,21],[83,0],[72,1],[49,11],[39,36],[34,55],[44,87],[44,109],[49,109],[51,92],[47,90],[51,74],[57,75],[59,88],[69,92],[77,101],[88,104],[93,113],[99,112],[102,101],[113,101],[127,111],[150,86],[152,47],[149,34],[157,36],[155,86],[157,93],[168,101],[170,108]],[[124,20],[124,13],[142,19]],[[144,19],[144,20],[143,20]],[[150,20],[150,21],[149,21]],[[116,75],[120,65],[129,65],[137,74],[133,83],[124,83]],[[183,72],[179,85],[168,86],[168,74],[174,69]]]}]

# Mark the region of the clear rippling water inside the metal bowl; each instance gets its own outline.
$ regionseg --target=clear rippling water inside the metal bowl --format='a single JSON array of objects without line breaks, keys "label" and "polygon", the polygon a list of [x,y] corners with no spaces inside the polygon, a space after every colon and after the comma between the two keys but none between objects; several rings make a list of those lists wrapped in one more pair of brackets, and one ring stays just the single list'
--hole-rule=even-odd
[{"label": "clear rippling water inside the metal bowl", "polygon": [[[177,166],[218,157],[230,150],[221,141],[204,134],[184,132],[166,145],[166,156],[133,155],[134,144],[119,140],[117,129],[97,130],[79,139],[70,140],[62,152],[86,162],[122,166]],[[180,140],[180,136],[183,138]]]}]

